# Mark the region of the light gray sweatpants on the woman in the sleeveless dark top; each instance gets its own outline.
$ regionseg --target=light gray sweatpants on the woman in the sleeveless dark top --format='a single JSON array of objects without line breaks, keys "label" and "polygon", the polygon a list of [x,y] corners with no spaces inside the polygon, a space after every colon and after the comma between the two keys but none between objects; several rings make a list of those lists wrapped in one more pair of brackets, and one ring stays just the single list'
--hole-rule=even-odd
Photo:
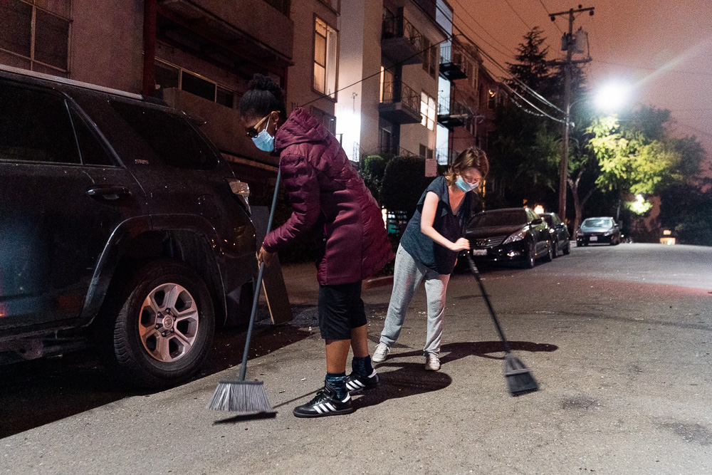
[{"label": "light gray sweatpants on the woman in the sleeveless dark top", "polygon": [[381,332],[381,343],[391,346],[397,340],[405,313],[408,310],[415,291],[425,281],[425,293],[428,299],[428,335],[423,353],[440,353],[440,338],[443,334],[445,313],[445,291],[450,275],[433,271],[415,261],[403,246],[398,246],[393,274],[393,291],[388,304],[386,322]]}]

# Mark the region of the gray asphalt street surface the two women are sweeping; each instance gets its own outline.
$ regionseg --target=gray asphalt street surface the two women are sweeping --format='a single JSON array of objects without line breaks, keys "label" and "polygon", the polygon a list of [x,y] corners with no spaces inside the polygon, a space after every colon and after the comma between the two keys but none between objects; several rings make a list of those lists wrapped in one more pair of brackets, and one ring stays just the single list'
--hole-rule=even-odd
[{"label": "gray asphalt street surface the two women are sweeping", "polygon": [[[0,432],[0,473],[712,471],[712,248],[572,247],[533,269],[483,270],[515,353],[540,383],[520,397],[506,390],[476,282],[456,273],[441,370],[423,370],[421,290],[377,367],[380,386],[355,397],[353,414],[320,419],[291,412],[323,384],[315,272],[284,273],[295,320],[258,325],[248,362],[273,417],[205,409],[217,383],[236,376],[244,333],[221,333],[202,377],[158,393],[115,389],[84,353],[16,365],[0,372],[0,424],[11,422]],[[372,348],[389,294],[363,294]]]}]

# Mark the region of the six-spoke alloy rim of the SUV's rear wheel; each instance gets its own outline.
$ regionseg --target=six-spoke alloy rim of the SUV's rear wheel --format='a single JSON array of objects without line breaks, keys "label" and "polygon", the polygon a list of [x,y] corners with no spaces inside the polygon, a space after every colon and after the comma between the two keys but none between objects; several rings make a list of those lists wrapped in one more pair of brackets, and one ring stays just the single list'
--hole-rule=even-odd
[{"label": "six-spoke alloy rim of the SUV's rear wheel", "polygon": [[148,293],[138,318],[146,352],[159,362],[174,362],[189,353],[198,335],[198,307],[177,283],[164,283]]}]

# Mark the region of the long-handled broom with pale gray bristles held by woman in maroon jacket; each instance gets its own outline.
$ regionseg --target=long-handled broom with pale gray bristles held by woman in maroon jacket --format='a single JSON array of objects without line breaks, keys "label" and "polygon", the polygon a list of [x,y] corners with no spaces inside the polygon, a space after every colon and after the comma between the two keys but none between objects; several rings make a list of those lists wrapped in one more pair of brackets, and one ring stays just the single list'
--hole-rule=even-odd
[{"label": "long-handled broom with pale gray bristles held by woman in maroon jacket", "polygon": [[[274,185],[274,196],[272,197],[272,208],[269,212],[267,221],[267,232],[272,229],[272,219],[274,218],[274,210],[277,205],[277,193],[279,190],[279,180],[281,178],[281,170],[277,172],[277,182]],[[208,409],[214,411],[230,411],[241,412],[244,414],[252,414],[258,412],[274,412],[272,406],[267,400],[264,387],[261,381],[245,381],[247,373],[247,355],[250,349],[250,339],[252,338],[252,327],[255,323],[255,315],[257,313],[257,302],[260,298],[260,286],[262,284],[262,276],[265,270],[265,263],[260,263],[260,269],[257,273],[257,285],[255,286],[255,296],[252,300],[252,312],[250,313],[250,323],[247,327],[247,337],[245,339],[245,350],[242,353],[242,365],[240,366],[240,376],[236,381],[221,381],[218,387],[215,388],[213,397],[208,403]]]}]

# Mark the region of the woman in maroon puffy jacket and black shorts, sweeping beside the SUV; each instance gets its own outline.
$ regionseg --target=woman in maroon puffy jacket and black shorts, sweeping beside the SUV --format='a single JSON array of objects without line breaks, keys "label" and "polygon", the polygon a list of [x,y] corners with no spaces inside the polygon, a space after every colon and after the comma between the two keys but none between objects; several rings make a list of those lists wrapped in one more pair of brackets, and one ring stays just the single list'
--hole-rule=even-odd
[{"label": "woman in maroon puffy jacket and black shorts, sweeping beside the SUV", "polygon": [[[255,75],[240,100],[240,113],[256,147],[279,153],[292,204],[287,222],[265,237],[258,261],[268,261],[303,234],[312,234],[320,246],[318,314],[327,373],[324,389],[295,407],[294,415],[347,414],[353,411],[349,393],[378,383],[368,351],[361,281],[393,259],[381,211],[326,127],[301,108],[287,118],[282,91],[270,78]],[[347,376],[349,348],[354,357]]]}]

